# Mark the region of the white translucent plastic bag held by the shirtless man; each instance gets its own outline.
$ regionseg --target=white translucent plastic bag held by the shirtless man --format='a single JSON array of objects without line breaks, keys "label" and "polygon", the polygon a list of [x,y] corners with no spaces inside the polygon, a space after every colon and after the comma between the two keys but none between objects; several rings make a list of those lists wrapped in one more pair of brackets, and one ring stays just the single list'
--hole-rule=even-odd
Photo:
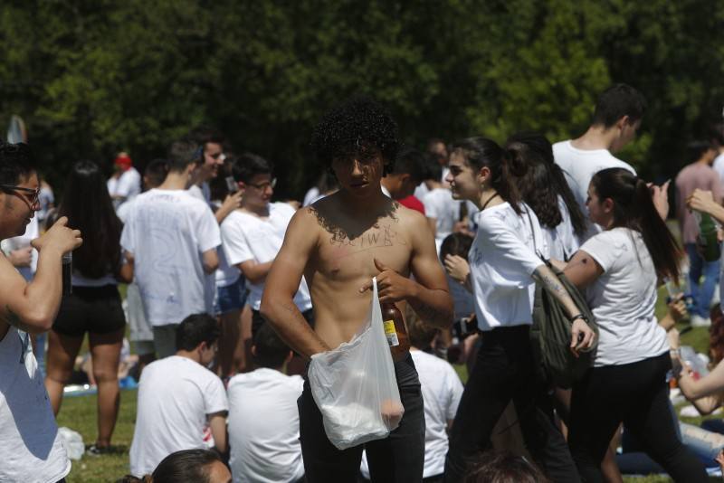
[{"label": "white translucent plastic bag held by the shirtless man", "polygon": [[405,409],[382,325],[376,279],[367,323],[349,342],[312,355],[308,377],[324,431],[338,450],[386,438],[400,423]]}]

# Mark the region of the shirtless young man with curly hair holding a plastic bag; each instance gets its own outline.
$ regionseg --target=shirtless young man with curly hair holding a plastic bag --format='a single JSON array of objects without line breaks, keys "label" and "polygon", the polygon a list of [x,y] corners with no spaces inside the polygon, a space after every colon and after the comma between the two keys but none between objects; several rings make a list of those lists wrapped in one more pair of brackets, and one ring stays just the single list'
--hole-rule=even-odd
[{"label": "shirtless young man with curly hair holding a plastic bag", "polygon": [[[397,204],[380,189],[398,149],[395,122],[368,99],[330,111],[312,136],[319,161],[331,166],[340,189],[294,214],[267,276],[262,315],[306,357],[349,341],[369,310],[372,277],[380,301],[409,303],[435,327],[452,322],[452,299],[433,235],[424,216]],[[414,275],[414,280],[410,279]],[[315,327],[292,302],[304,275]],[[395,374],[405,415],[385,440],[365,445],[372,481],[423,479],[424,412],[409,353]],[[337,450],[327,439],[309,382],[299,401],[300,440],[308,481],[357,481],[362,446]]]}]

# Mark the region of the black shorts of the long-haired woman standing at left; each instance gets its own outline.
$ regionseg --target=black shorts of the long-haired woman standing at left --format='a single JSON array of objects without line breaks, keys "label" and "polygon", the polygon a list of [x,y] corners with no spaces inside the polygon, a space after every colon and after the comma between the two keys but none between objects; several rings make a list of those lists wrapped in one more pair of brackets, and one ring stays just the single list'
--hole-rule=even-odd
[{"label": "black shorts of the long-haired woman standing at left", "polygon": [[73,287],[63,296],[52,330],[64,336],[109,334],[126,325],[126,316],[115,285]]}]

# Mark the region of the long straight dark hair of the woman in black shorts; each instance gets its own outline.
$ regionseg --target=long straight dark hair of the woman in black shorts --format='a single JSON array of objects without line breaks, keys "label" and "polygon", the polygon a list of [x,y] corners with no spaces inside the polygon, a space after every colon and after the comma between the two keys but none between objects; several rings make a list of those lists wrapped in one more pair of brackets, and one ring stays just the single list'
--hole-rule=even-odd
[{"label": "long straight dark hair of the woman in black shorts", "polygon": [[103,174],[92,161],[77,162],[68,175],[59,216],[68,217],[68,225],[80,230],[81,247],[73,251],[73,268],[89,279],[120,268],[120,232],[123,224],[113,209]]}]

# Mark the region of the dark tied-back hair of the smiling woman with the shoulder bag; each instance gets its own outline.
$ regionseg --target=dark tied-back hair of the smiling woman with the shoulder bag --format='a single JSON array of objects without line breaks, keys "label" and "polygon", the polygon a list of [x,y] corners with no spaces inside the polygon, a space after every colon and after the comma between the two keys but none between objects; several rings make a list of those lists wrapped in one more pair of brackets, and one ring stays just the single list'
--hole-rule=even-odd
[{"label": "dark tied-back hair of the smiling woman with the shoulder bag", "polygon": [[500,197],[510,203],[520,214],[521,197],[514,178],[525,175],[526,166],[518,159],[511,159],[505,149],[485,137],[467,137],[452,145],[452,152],[459,153],[476,172],[485,166],[491,170],[491,185]]}]

